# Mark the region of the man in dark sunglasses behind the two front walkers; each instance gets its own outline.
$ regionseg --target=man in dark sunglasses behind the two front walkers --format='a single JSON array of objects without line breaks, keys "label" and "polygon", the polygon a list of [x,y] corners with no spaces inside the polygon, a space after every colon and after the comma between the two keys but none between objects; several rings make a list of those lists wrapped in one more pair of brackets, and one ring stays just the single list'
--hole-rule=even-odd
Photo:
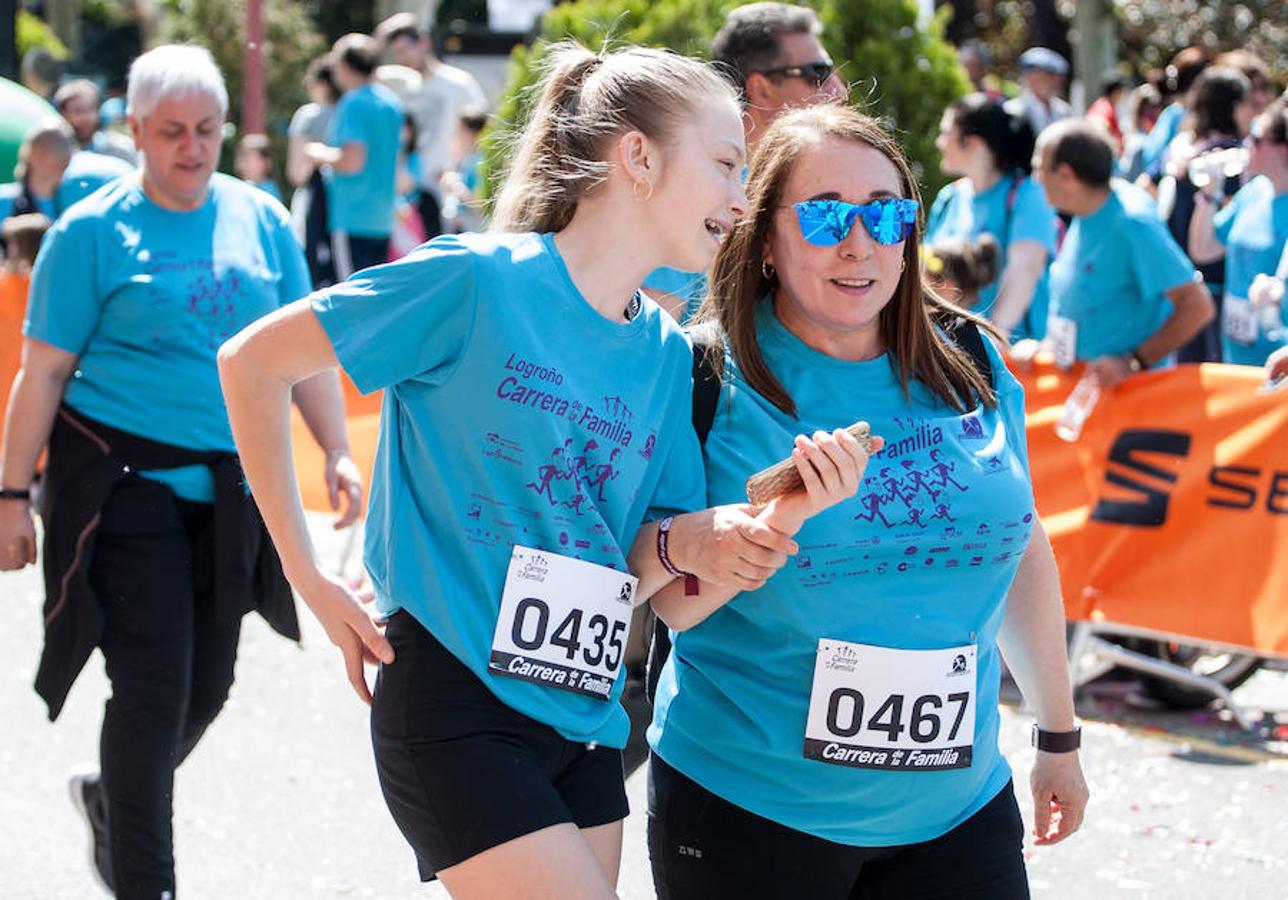
[{"label": "man in dark sunglasses behind the two front walkers", "polygon": [[[813,9],[750,3],[733,9],[711,41],[711,61],[743,100],[747,155],[786,109],[845,99],[848,88],[819,42],[823,23]],[[680,322],[707,292],[706,273],[658,269],[644,288]]]}]

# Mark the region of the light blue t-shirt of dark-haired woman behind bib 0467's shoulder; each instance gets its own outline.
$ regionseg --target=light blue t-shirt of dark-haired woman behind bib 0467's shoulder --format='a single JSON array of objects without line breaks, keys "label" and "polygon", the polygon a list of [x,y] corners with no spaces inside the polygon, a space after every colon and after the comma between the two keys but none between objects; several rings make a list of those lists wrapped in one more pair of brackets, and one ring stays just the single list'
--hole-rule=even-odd
[{"label": "light blue t-shirt of dark-haired woman behind bib 0467's shoulder", "polygon": [[[1019,178],[1019,184],[1016,184]],[[1014,194],[1012,194],[1014,187]],[[926,220],[926,245],[945,238],[975,241],[992,234],[998,243],[997,278],[979,291],[975,312],[988,315],[997,300],[997,290],[1006,270],[1010,246],[1016,241],[1037,241],[1055,259],[1056,215],[1047,202],[1042,185],[1027,176],[1003,176],[981,194],[969,178],[945,185],[935,197]],[[1011,340],[1041,339],[1046,335],[1047,274],[1046,269],[1033,288],[1033,299],[1024,317],[1011,332]]]}]

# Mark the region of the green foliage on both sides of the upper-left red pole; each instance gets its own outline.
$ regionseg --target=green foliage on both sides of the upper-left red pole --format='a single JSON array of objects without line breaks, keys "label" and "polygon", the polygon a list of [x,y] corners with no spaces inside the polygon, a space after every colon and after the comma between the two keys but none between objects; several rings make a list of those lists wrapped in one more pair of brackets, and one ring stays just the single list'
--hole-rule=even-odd
[{"label": "green foliage on both sides of the upper-left red pole", "polygon": [[[198,44],[210,50],[228,84],[228,117],[240,124],[243,48],[246,46],[246,8],[242,0],[171,0],[165,17],[166,41]],[[267,130],[273,139],[278,173],[286,162],[286,126],[291,113],[308,98],[304,71],[309,61],[325,52],[318,33],[301,4],[291,0],[264,3],[264,81],[267,90]],[[228,148],[225,148],[225,160]]]}]

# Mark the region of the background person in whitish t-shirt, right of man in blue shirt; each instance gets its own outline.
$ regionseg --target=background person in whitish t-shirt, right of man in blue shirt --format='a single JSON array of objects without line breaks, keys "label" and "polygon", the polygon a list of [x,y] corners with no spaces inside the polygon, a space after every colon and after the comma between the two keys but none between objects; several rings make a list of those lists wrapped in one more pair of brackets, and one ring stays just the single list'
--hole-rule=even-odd
[{"label": "background person in whitish t-shirt, right of man in blue shirt", "polygon": [[420,218],[426,237],[440,234],[443,193],[439,179],[451,169],[452,139],[461,112],[487,108],[487,97],[473,75],[434,55],[433,36],[412,13],[397,13],[376,27],[394,66],[381,66],[376,79],[398,94],[416,120],[420,155]]}]

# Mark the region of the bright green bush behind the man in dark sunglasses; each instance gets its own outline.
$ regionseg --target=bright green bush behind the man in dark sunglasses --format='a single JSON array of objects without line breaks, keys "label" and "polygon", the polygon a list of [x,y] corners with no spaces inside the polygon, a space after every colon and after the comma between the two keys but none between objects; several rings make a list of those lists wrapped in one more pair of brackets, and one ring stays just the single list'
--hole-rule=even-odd
[{"label": "bright green bush behind the man in dark sunglasses", "polygon": [[[488,173],[504,170],[506,133],[522,122],[550,42],[576,39],[590,48],[665,46],[706,57],[732,0],[580,0],[542,18],[540,40],[510,57],[497,124],[486,139]],[[934,148],[939,118],[970,85],[943,39],[945,15],[917,27],[914,0],[805,0],[823,19],[823,45],[850,81],[850,99],[896,129],[927,196],[944,183]],[[489,179],[489,187],[493,179]]]}]

